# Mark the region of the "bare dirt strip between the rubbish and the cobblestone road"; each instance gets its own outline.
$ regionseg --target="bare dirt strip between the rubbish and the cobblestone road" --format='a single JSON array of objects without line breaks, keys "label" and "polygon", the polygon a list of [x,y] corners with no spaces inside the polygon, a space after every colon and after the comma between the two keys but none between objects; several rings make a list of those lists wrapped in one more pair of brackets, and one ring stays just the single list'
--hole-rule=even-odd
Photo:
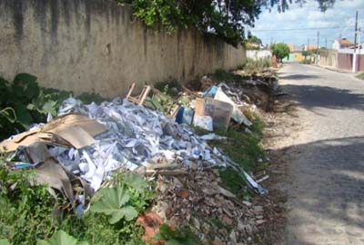
[{"label": "bare dirt strip between the rubbish and the cobblestone road", "polygon": [[287,244],[285,240],[287,224],[288,201],[287,186],[288,162],[296,154],[294,147],[290,147],[290,141],[299,137],[300,124],[296,104],[285,97],[275,101],[274,110],[264,113],[265,121],[264,147],[268,151],[270,164],[267,173],[269,179],[263,185],[268,188],[268,196],[258,197],[254,202],[265,207],[265,218],[268,222],[261,227],[254,238],[255,244],[280,245]]}]

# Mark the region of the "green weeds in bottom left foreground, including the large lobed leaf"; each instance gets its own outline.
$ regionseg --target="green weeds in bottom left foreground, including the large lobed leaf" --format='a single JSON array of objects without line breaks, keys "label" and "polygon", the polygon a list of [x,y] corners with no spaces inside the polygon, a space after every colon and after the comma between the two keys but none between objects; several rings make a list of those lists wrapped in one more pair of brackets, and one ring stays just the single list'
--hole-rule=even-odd
[{"label": "green weeds in bottom left foreground, including the large lobed leaf", "polygon": [[[90,211],[77,218],[46,186],[30,185],[33,171],[10,171],[4,159],[1,162],[0,240],[11,244],[143,244],[143,230],[135,221],[154,193],[139,175],[117,174],[109,188],[96,193]],[[59,243],[61,237],[73,243]]]}]

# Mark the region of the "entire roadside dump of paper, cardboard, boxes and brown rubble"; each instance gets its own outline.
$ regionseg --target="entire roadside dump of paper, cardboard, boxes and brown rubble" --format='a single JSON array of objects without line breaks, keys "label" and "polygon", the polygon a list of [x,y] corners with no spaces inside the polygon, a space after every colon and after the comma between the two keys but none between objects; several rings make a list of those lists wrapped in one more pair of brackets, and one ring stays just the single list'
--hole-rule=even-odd
[{"label": "entire roadside dump of paper, cardboard, boxes and brown rubble", "polygon": [[[1,142],[0,151],[8,153],[11,168],[34,169],[36,182],[64,194],[79,215],[114,171],[136,171],[157,181],[152,211],[163,220],[188,225],[201,240],[248,242],[248,234],[265,222],[262,208],[224,189],[215,167],[238,171],[250,190],[261,195],[267,190],[208,141],[225,141],[212,131],[227,130],[230,121],[248,130],[252,122],[241,108],[256,107],[252,102],[257,99],[246,90],[258,85],[272,86],[251,80],[211,83],[203,93],[186,89],[189,103],[171,102],[177,106],[166,115],[143,105],[146,100],[155,103],[147,98],[150,88],[138,98],[128,93],[124,100],[100,104],[70,97],[55,119],[49,117],[49,122]],[[211,132],[199,136],[191,125]],[[83,191],[75,191],[80,187]]]}]

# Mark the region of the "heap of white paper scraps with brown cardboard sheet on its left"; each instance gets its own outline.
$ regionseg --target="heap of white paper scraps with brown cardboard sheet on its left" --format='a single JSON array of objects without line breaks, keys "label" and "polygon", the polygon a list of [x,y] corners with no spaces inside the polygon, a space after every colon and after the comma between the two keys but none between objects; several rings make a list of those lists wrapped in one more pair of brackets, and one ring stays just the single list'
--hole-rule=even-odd
[{"label": "heap of white paper scraps with brown cardboard sheet on its left", "polygon": [[[69,98],[59,109],[59,116],[45,125],[37,125],[29,132],[20,133],[0,144],[5,152],[22,160],[16,167],[37,168],[52,156],[65,171],[80,176],[97,191],[113,171],[125,168],[149,169],[176,162],[189,167],[223,166],[239,169],[217,148],[206,140],[220,139],[214,133],[197,136],[186,124],[178,124],[162,113],[142,105],[116,98],[112,102],[82,104]],[[34,143],[43,142],[42,151],[29,154]],[[42,155],[43,154],[43,155]],[[25,164],[24,164],[25,162]],[[26,165],[27,164],[27,165]],[[266,191],[251,178],[248,184],[260,193]],[[65,189],[61,187],[59,189]],[[68,195],[70,192],[68,191]]]}]

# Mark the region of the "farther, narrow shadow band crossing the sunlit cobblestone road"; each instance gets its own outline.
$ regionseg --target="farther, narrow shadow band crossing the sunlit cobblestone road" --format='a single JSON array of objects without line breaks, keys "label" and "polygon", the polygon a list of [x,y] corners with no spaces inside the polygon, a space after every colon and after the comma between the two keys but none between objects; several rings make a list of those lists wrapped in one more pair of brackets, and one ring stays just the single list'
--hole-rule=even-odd
[{"label": "farther, narrow shadow band crossing the sunlit cobblestone road", "polygon": [[290,100],[310,111],[315,107],[364,110],[364,94],[351,93],[347,89],[298,84],[281,85],[280,88],[288,93]]}]

